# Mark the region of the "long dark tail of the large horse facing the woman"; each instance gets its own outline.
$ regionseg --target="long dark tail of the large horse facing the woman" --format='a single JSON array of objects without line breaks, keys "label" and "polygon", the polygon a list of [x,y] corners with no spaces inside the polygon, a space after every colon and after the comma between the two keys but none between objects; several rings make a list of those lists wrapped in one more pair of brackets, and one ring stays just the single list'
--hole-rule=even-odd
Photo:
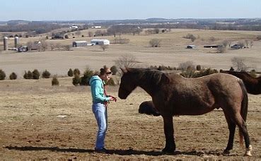
[{"label": "long dark tail of the large horse facing the woman", "polygon": [[[245,85],[242,80],[238,80],[238,83],[242,89],[243,93],[243,100],[241,102],[241,117],[243,117],[243,120],[246,121],[247,115],[248,115],[248,92],[245,89]],[[243,146],[243,132],[239,129],[239,143],[241,146]]]}]

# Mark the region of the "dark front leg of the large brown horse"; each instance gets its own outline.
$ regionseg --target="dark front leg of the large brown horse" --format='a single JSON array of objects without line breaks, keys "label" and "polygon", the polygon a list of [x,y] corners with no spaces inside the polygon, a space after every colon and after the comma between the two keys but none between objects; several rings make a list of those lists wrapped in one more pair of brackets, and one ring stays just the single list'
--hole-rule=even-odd
[{"label": "dark front leg of the large brown horse", "polygon": [[163,116],[164,133],[166,137],[166,146],[162,150],[163,153],[174,153],[176,145],[174,141],[173,117]]}]

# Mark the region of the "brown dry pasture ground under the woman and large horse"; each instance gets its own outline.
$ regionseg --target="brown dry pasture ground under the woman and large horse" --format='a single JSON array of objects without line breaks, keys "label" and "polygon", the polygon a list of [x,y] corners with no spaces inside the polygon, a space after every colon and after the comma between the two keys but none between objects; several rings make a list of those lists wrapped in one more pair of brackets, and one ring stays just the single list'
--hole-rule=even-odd
[{"label": "brown dry pasture ground under the woman and large horse", "polygon": [[[248,160],[243,157],[236,133],[233,153],[222,155],[228,127],[221,110],[201,116],[174,118],[178,152],[162,155],[163,120],[139,114],[141,102],[151,100],[138,88],[127,100],[112,102],[108,109],[108,154],[93,152],[96,122],[91,112],[90,87],[51,87],[50,80],[20,87],[0,82],[0,158],[2,160]],[[6,88],[6,85],[9,85]],[[45,89],[45,90],[40,90]],[[117,95],[118,86],[109,87]],[[261,159],[261,96],[249,95],[248,132],[252,160]],[[63,117],[61,117],[63,116]],[[237,129],[238,130],[238,129]]]}]

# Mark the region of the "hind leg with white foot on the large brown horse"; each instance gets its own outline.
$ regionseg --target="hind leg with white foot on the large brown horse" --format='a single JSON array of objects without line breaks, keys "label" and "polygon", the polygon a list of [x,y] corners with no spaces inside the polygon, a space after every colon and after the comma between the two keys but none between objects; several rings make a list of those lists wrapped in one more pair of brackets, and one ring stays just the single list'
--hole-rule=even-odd
[{"label": "hind leg with white foot on the large brown horse", "polygon": [[248,135],[248,130],[245,124],[245,121],[241,117],[240,113],[235,115],[235,122],[238,125],[239,130],[243,133],[244,140],[245,140],[245,155],[252,156],[251,150],[252,146],[250,145],[250,138]]}]

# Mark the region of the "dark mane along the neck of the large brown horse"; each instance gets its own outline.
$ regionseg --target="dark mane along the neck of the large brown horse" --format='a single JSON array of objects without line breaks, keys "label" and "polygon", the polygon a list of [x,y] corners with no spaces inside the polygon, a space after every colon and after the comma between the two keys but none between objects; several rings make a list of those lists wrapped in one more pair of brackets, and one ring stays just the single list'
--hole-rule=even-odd
[{"label": "dark mane along the neck of the large brown horse", "polygon": [[129,68],[129,71],[132,73],[137,73],[137,78],[141,80],[149,80],[150,82],[158,85],[161,83],[161,79],[163,76],[163,71],[157,71],[150,68]]}]

